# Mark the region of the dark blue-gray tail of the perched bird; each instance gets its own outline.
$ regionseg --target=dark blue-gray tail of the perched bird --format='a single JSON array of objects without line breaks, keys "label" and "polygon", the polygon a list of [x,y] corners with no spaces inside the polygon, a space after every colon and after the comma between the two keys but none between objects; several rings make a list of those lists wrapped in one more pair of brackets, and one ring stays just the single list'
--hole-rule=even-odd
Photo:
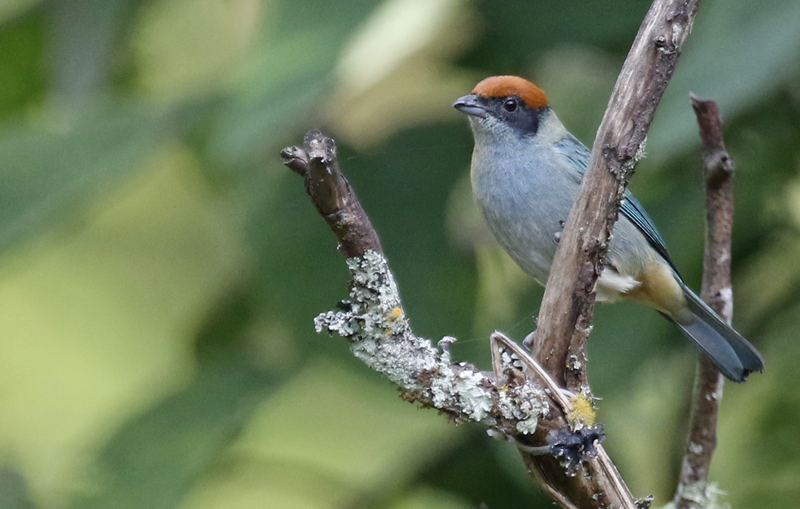
[{"label": "dark blue-gray tail of the perched bird", "polygon": [[686,303],[694,315],[688,324],[675,322],[714,361],[723,375],[744,382],[753,371],[764,369],[764,358],[741,334],[726,324],[706,303],[681,282]]}]

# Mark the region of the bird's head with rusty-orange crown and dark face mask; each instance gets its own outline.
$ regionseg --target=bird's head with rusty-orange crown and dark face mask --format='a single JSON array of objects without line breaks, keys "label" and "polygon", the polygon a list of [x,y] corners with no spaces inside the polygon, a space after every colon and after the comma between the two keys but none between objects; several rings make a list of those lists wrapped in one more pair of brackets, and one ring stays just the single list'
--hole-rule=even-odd
[{"label": "bird's head with rusty-orange crown and dark face mask", "polygon": [[549,112],[544,91],[518,76],[486,78],[453,107],[469,116],[476,139],[487,133],[534,136]]}]

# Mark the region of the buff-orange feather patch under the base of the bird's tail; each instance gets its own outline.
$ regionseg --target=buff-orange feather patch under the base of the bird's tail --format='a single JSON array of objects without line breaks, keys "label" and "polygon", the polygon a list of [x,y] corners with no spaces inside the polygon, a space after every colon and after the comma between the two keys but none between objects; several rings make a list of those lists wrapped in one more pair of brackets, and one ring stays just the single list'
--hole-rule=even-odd
[{"label": "buff-orange feather patch under the base of the bird's tail", "polygon": [[636,278],[642,284],[625,297],[638,300],[680,322],[686,309],[686,297],[675,273],[663,262],[650,262]]}]

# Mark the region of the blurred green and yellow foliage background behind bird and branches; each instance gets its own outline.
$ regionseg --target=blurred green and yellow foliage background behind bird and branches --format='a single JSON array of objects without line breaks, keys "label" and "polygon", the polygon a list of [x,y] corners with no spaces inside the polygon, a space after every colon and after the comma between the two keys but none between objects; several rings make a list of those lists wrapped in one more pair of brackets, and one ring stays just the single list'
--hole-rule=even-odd
[{"label": "blurred green and yellow foliage background behind bird and branches", "polygon": [[[550,507],[513,447],[402,402],[318,335],[347,295],[334,237],[278,151],[320,127],[417,333],[488,368],[541,290],[471,201],[450,105],[501,73],[591,144],[646,0],[0,2],[0,508]],[[631,184],[697,288],[690,91],[738,165],[735,325],[767,370],[728,385],[712,478],[800,498],[800,2],[707,0]],[[695,352],[601,306],[606,445],[665,503]]]}]

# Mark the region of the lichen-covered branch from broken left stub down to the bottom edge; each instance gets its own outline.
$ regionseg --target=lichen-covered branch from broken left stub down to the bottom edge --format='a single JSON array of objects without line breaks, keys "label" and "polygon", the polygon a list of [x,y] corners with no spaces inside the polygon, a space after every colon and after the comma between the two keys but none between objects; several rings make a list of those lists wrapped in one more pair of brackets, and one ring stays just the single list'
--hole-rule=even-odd
[{"label": "lichen-covered branch from broken left stub down to the bottom edge", "polygon": [[318,331],[346,338],[359,359],[403,389],[405,399],[437,408],[456,423],[479,422],[490,434],[513,440],[531,474],[562,507],[647,506],[636,505],[600,445],[602,427],[575,412],[561,387],[511,340],[492,335],[494,372],[484,372],[452,362],[453,338],[444,338],[437,348],[413,333],[386,259],[371,247],[380,246],[378,236],[339,170],[333,140],[312,131],[303,147],[281,154],[303,176],[353,276],[349,299],[316,318]]}]

